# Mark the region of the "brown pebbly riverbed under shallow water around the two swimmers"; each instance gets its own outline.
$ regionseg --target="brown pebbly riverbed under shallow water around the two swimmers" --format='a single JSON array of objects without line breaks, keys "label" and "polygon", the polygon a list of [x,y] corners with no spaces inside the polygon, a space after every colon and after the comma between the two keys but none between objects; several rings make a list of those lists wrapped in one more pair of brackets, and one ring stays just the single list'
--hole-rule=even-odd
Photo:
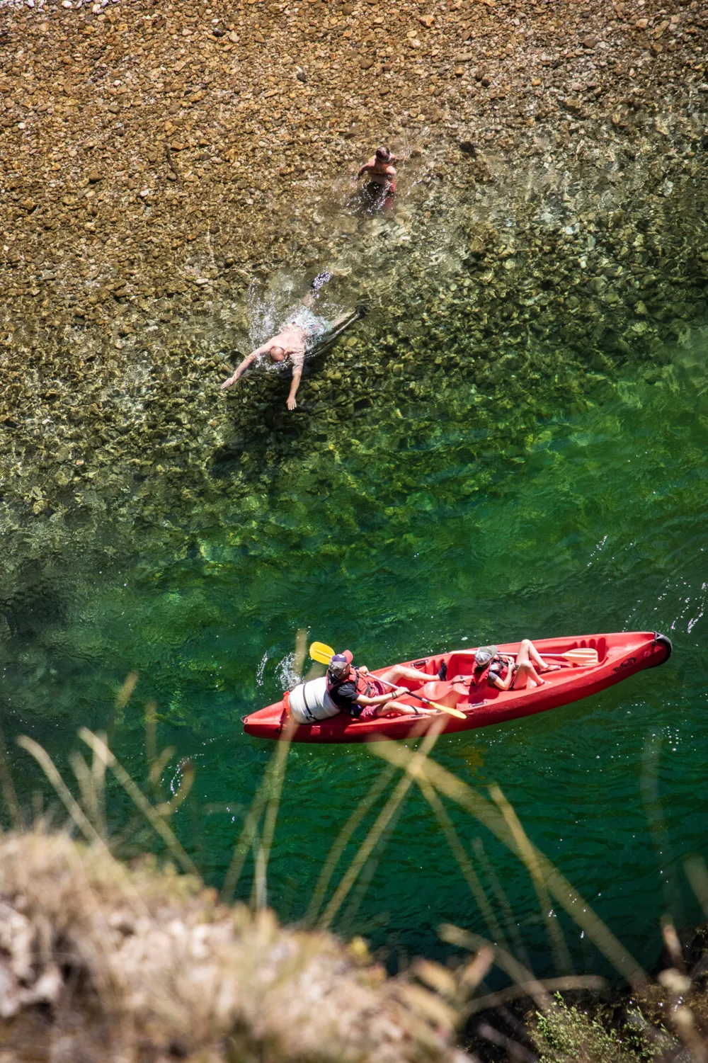
[{"label": "brown pebbly riverbed under shallow water around the two swimmers", "polygon": [[[257,518],[296,451],[317,477],[382,422],[387,449],[422,445],[431,391],[513,458],[625,360],[660,379],[705,315],[696,0],[35,0],[0,32],[1,518],[22,540],[224,492]],[[371,216],[351,176],[381,141],[399,197]],[[322,268],[323,304],[370,316],[299,409],[277,375],[221,393]]]}]

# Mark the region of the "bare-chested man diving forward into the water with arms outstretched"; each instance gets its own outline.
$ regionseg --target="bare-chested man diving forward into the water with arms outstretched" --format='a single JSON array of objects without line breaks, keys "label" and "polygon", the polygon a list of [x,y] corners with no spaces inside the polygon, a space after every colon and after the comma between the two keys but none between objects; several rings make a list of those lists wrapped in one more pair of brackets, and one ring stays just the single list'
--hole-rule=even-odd
[{"label": "bare-chested man diving forward into the water with arms outstretched", "polygon": [[233,376],[230,376],[221,385],[222,391],[232,387],[258,358],[268,358],[271,362],[289,361],[292,366],[292,383],[290,384],[290,392],[287,398],[287,407],[288,409],[297,408],[296,395],[298,394],[298,388],[302,378],[305,355],[318,342],[324,339],[327,333],[333,333],[348,321],[353,321],[357,317],[363,316],[361,310],[348,310],[334,321],[326,321],[324,318],[313,314],[310,307],[317,298],[319,289],[328,280],[330,273],[320,273],[319,276],[315,277],[310,290],[302,299],[303,308],[290,318],[277,336],[272,336],[271,339],[267,340],[255,351],[251,351],[243,358]]}]

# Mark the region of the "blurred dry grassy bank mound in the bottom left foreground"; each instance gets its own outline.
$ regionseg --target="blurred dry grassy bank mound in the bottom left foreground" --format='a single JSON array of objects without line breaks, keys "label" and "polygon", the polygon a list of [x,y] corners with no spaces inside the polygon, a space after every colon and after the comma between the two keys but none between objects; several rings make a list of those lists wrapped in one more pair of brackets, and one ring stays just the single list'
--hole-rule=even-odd
[{"label": "blurred dry grassy bank mound in the bottom left foreground", "polygon": [[0,854],[7,1063],[468,1060],[451,1003],[387,979],[360,939],[285,929],[196,877],[129,870],[65,834],[5,834]]}]

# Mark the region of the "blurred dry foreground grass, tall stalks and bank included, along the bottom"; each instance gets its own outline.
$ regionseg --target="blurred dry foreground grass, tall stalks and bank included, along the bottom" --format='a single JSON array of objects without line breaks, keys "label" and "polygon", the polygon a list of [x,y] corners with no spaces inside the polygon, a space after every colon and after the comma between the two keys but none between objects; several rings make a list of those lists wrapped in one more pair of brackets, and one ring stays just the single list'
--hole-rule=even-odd
[{"label": "blurred dry foreground grass, tall stalks and bank included, along the bottom", "polygon": [[[131,674],[118,695],[119,707],[130,699],[135,682]],[[665,963],[656,980],[650,978],[528,839],[501,789],[490,787],[487,799],[432,759],[441,726],[442,721],[434,721],[415,748],[371,746],[387,766],[335,841],[304,928],[280,927],[267,908],[287,733],[243,817],[221,900],[204,888],[170,826],[195,771],[182,763],[180,786],[165,798],[161,778],[173,750],[157,753],[153,706],[146,706],[149,773],[144,787],[125,772],[105,738],[86,728],[79,737],[91,750],[90,760],[78,752],[70,758],[75,795],[38,743],[18,740],[68,813],[63,823],[57,808],[46,809],[43,799],[27,826],[0,742],[0,786],[13,824],[13,831],[0,838],[0,1046],[12,1045],[9,1059],[35,1060],[37,1050],[45,1052],[41,1058],[49,1052],[54,1059],[57,1039],[64,1039],[62,1059],[70,1048],[71,1058],[88,1061],[105,1059],[106,1045],[112,1059],[173,1057],[195,1063],[708,1060],[703,939],[698,935],[697,957],[696,941],[692,943],[689,969],[674,926],[664,918]],[[176,874],[171,862],[159,868],[154,857],[134,861],[132,867],[120,862],[129,833],[107,836],[107,772],[185,874]],[[367,837],[332,888],[354,830],[397,774]],[[366,889],[370,859],[390,837],[414,786],[429,803],[489,937],[444,925],[442,940],[459,950],[454,962],[445,966],[419,959],[402,975],[387,978],[361,939],[344,944],[328,928],[344,901],[355,905],[357,889]],[[535,977],[523,942],[510,933],[512,921],[507,921],[507,933],[513,940],[507,941],[445,800],[463,808],[526,867],[559,977]],[[72,840],[77,833],[81,842]],[[254,868],[250,905],[231,905],[249,859]],[[686,873],[708,917],[703,861],[688,861]],[[551,917],[551,898],[612,964],[627,991],[608,994],[602,978],[570,972],[561,926]],[[467,1043],[467,1052],[454,1047],[456,1035]]]}]

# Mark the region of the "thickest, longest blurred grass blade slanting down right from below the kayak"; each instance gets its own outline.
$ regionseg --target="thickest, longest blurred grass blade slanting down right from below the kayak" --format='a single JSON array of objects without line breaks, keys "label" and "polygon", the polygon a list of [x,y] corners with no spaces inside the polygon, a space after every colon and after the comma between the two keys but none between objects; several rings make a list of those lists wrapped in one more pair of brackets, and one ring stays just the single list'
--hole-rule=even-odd
[{"label": "thickest, longest blurred grass blade slanting down right from below the kayak", "polygon": [[[372,750],[389,763],[405,767],[410,774],[426,779],[438,791],[466,808],[479,823],[493,833],[504,845],[521,859],[521,854],[509,830],[509,826],[500,811],[481,797],[451,772],[433,761],[414,761],[411,754],[404,747],[392,742],[380,742],[372,745]],[[529,842],[529,845],[532,843]],[[535,858],[540,874],[556,901],[568,912],[570,917],[580,927],[595,944],[603,956],[633,985],[646,982],[646,974],[641,964],[618,941],[614,934],[605,926],[590,908],[589,904],[575,890],[563,875],[551,863],[540,849],[533,845]]]}]

